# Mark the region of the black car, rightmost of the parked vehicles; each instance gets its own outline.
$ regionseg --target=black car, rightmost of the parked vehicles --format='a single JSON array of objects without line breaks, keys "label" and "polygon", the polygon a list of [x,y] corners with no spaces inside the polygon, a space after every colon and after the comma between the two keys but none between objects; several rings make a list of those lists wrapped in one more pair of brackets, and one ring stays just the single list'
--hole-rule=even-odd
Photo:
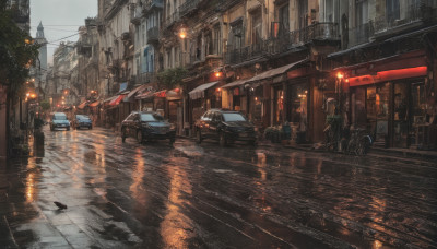
[{"label": "black car, rightmost of the parked vehicles", "polygon": [[234,141],[257,144],[255,126],[239,111],[211,109],[194,126],[198,143],[203,139],[216,139],[222,146]]}]

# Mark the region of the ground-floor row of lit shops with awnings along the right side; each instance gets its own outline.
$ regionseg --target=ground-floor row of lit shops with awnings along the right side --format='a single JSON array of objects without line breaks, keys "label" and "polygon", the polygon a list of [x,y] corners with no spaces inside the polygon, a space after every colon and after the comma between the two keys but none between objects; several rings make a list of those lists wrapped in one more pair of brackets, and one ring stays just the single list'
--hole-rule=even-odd
[{"label": "ground-floor row of lit shops with awnings along the right side", "polygon": [[[233,82],[205,82],[192,87],[155,91],[141,85],[102,102],[78,106],[101,124],[117,128],[133,110],[154,110],[175,123],[179,134],[192,133],[192,124],[208,109],[226,108],[245,114],[260,131],[290,123],[294,138],[308,143],[324,140],[330,99],[343,98],[343,122],[367,129],[376,144],[391,147],[435,147],[435,70],[424,51],[316,70],[308,59]],[[342,76],[338,76],[338,75]],[[340,95],[342,94],[342,95]]]}]

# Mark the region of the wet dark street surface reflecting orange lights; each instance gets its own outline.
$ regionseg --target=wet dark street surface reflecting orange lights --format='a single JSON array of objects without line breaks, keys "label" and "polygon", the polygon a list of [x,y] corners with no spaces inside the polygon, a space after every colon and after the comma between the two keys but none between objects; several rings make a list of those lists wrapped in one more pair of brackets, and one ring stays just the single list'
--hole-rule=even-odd
[{"label": "wet dark street surface reflecting orange lights", "polygon": [[437,248],[437,163],[45,133],[7,169],[20,247]]}]

